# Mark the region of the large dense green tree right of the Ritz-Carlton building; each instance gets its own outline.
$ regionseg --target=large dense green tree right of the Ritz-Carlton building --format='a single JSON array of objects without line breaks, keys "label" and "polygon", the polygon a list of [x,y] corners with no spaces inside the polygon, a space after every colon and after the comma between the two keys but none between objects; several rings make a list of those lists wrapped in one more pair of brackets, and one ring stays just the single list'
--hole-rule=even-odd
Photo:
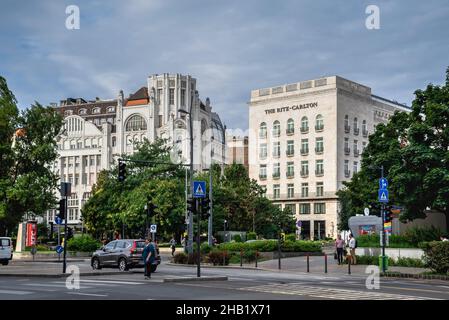
[{"label": "large dense green tree right of the Ritz-Carlton building", "polygon": [[429,207],[446,215],[449,230],[449,68],[445,85],[416,90],[411,112],[396,112],[369,137],[361,171],[337,193],[340,228],[364,206],[379,212],[380,166],[390,181],[390,203],[404,207],[401,221],[424,218]]}]

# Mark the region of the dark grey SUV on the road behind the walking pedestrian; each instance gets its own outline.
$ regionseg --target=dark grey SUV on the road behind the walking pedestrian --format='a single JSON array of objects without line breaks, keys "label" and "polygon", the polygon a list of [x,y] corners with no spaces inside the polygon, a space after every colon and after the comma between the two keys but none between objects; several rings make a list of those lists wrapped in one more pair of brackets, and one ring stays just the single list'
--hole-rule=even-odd
[{"label": "dark grey SUV on the road behind the walking pedestrian", "polygon": [[[131,268],[143,268],[142,252],[145,240],[122,239],[109,242],[107,245],[95,251],[92,255],[92,269],[99,270],[103,267],[118,267],[120,271]],[[155,272],[161,263],[159,249],[156,249],[156,260],[151,266],[151,272]]]}]

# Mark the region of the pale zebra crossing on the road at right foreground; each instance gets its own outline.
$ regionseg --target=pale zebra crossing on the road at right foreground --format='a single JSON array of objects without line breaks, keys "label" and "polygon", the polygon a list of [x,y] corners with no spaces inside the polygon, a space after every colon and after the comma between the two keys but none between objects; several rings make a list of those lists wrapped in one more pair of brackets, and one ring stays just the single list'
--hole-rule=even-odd
[{"label": "pale zebra crossing on the road at right foreground", "polygon": [[334,300],[440,300],[429,297],[376,292],[375,290],[360,291],[351,289],[312,287],[304,286],[302,283],[268,284],[238,288],[238,290],[308,296],[313,298]]}]

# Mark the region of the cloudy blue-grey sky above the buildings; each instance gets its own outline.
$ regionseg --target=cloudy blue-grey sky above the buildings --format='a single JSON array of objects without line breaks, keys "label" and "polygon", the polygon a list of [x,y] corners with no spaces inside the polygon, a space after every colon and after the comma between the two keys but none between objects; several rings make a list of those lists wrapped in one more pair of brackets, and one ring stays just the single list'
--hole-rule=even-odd
[{"label": "cloudy blue-grey sky above the buildings", "polygon": [[[80,28],[66,28],[66,7]],[[379,29],[366,28],[368,5]],[[411,105],[449,66],[447,0],[2,0],[0,75],[19,106],[114,99],[190,74],[228,128],[254,89],[339,75]]]}]

